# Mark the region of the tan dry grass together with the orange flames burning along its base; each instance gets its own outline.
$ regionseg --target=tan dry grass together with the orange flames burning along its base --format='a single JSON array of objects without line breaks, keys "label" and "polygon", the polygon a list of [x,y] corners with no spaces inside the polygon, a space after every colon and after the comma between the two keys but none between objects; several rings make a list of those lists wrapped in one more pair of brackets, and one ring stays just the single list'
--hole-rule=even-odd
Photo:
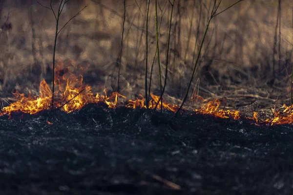
[{"label": "tan dry grass together with the orange flames burning along its base", "polygon": [[[176,1],[174,5],[168,68],[170,77],[167,79],[166,94],[176,100],[181,98],[186,90],[186,83],[190,77],[194,56],[210,8],[209,0],[204,0],[203,3],[194,2],[193,0]],[[232,3],[229,1],[227,4],[227,2],[223,2],[221,5],[223,7],[219,10]],[[216,117],[239,119],[243,111],[235,111],[233,108],[239,107],[239,104],[242,104],[241,106],[250,104],[248,98],[251,101],[260,99],[273,101],[278,98],[288,103],[290,89],[286,89],[286,86],[292,68],[293,51],[292,21],[288,13],[291,13],[292,1],[282,1],[279,53],[273,51],[276,2],[277,0],[246,0],[212,21],[196,75],[200,78],[199,90],[196,93],[197,100],[200,96],[206,99],[203,98],[200,104],[202,106],[196,105],[196,108],[193,107],[194,104],[189,104],[189,110]],[[118,93],[107,95],[106,92],[102,92],[105,88],[112,92],[117,87],[117,58],[121,49],[123,3],[108,0],[79,1],[78,4],[68,5],[63,20],[67,20],[66,17],[70,17],[85,4],[88,8],[60,33],[56,57],[64,61],[75,59],[75,64],[84,64],[84,66],[71,66],[59,62],[60,67],[57,71],[59,77],[55,79],[58,89],[54,95],[58,101],[54,103],[54,108],[72,112],[87,103],[100,101],[107,103],[109,107],[126,105],[132,108],[146,108],[145,99],[140,95],[144,94],[145,0],[137,0],[137,4],[135,1],[127,0],[124,52],[121,60],[123,95]],[[7,92],[10,93],[15,89],[25,91],[26,88],[28,92],[28,96],[15,92],[17,101],[4,107],[2,112],[11,114],[21,111],[34,114],[42,109],[49,109],[51,105],[48,100],[52,94],[48,83],[52,82],[50,67],[54,42],[54,17],[50,17],[51,13],[38,4],[27,3],[28,9],[11,5],[8,1],[1,5],[4,9],[0,13],[0,22],[12,24],[12,29],[3,30],[0,37],[2,48],[5,48],[0,54],[1,95],[7,97]],[[159,48],[162,50],[160,51],[162,72],[165,72],[164,59],[166,59],[170,5],[165,4],[164,0],[159,0],[159,5],[161,9],[158,13],[159,20],[162,17]],[[153,58],[156,49],[154,11],[154,4],[151,4],[148,27],[149,59]],[[20,17],[25,22],[19,22]],[[79,72],[83,71],[83,68],[87,68],[87,71],[82,76]],[[151,86],[154,94],[159,91],[157,77],[158,72],[155,70]],[[39,95],[37,95],[34,85],[40,81]],[[87,84],[84,84],[84,81]],[[192,86],[196,85],[195,81],[196,79]],[[245,90],[241,91],[243,88]],[[154,94],[151,95],[149,108],[153,108],[158,100]],[[137,99],[133,100],[134,97]],[[219,99],[223,98],[229,100],[230,107],[221,106]],[[239,99],[241,99],[240,103],[235,105],[230,103]],[[163,107],[176,111],[177,104],[178,101],[177,103],[165,101]],[[258,112],[249,118],[253,118],[258,123],[263,121],[265,124],[291,123],[292,108],[284,105],[279,106],[279,109],[280,111],[272,110],[272,117],[262,117]]]}]

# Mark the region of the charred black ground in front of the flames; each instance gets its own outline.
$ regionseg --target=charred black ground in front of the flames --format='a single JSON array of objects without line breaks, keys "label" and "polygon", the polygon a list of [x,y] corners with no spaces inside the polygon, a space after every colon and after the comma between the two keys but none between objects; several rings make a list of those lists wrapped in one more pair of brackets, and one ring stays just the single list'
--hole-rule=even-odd
[{"label": "charred black ground in front of the flames", "polygon": [[0,194],[292,194],[292,125],[148,116],[87,105],[71,114],[1,117]]}]

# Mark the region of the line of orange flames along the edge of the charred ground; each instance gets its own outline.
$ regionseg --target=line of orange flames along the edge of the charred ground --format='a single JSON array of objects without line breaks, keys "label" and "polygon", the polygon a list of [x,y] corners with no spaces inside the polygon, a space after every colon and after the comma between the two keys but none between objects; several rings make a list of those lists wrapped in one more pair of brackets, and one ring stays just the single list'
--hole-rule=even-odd
[{"label": "line of orange flames along the edge of the charred ground", "polygon": [[[39,87],[39,96],[33,95],[29,92],[26,97],[24,94],[16,91],[14,94],[17,101],[11,103],[7,107],[2,108],[0,116],[8,114],[10,117],[13,113],[28,113],[36,114],[42,110],[49,110],[51,108],[60,108],[66,113],[79,110],[84,107],[84,105],[89,103],[99,103],[104,102],[109,108],[116,108],[117,106],[125,105],[128,108],[146,108],[146,99],[139,95],[135,100],[127,99],[125,96],[113,92],[109,96],[108,91],[105,89],[102,94],[92,92],[91,86],[83,83],[82,74],[73,74],[73,72],[79,72],[86,70],[87,67],[74,66],[74,62],[71,61],[69,64],[64,64],[59,62],[56,64],[54,80],[55,92],[54,92],[54,105],[51,105],[52,91],[46,81],[43,79]],[[150,100],[148,102],[148,108],[154,109],[160,96],[150,94]],[[194,103],[196,99],[197,104],[202,104],[200,108],[193,109],[195,114],[212,115],[214,117],[220,118],[231,118],[238,120],[241,115],[237,110],[226,110],[221,109],[221,101],[219,99],[214,99],[212,101],[207,101],[206,99],[195,96],[191,98]],[[224,100],[225,101],[225,100]],[[176,112],[179,109],[178,105],[168,103],[164,98],[158,103],[158,109],[162,106],[163,109]],[[255,124],[264,125],[275,125],[275,124],[291,124],[293,123],[293,105],[286,106],[285,104],[281,107],[281,110],[274,112],[274,117],[260,119],[257,112],[253,112],[253,117],[246,117],[247,119],[253,121]],[[48,124],[52,124],[47,121]]]}]

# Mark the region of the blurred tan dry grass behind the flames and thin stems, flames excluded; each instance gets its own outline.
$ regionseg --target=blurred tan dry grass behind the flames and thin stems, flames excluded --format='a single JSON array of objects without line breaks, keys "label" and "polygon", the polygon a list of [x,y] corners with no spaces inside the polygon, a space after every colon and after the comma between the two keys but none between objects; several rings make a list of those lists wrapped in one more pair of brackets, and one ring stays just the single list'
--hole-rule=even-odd
[{"label": "blurred tan dry grass behind the flames and thin stems, flames excluded", "polygon": [[[50,0],[39,2],[50,4]],[[222,0],[219,11],[234,2]],[[55,9],[58,3],[53,0]],[[169,0],[158,3],[160,59],[165,73],[171,5]],[[175,0],[165,92],[169,98],[184,96],[212,3],[213,0]],[[88,7],[81,15],[60,33],[56,59],[74,60],[72,66],[89,64],[84,82],[96,92],[104,88],[115,91],[123,0],[70,0],[63,10],[61,26],[85,5]],[[126,0],[120,92],[128,98],[144,94],[146,5],[146,0]],[[52,12],[35,0],[0,1],[2,98],[12,97],[15,90],[37,94],[42,78],[52,82],[55,26]],[[156,51],[153,0],[148,38],[149,73]],[[196,91],[205,98],[228,99],[232,107],[256,100],[290,103],[292,52],[293,1],[244,0],[211,21],[188,98]],[[159,95],[157,63],[155,59],[151,91]]]}]

